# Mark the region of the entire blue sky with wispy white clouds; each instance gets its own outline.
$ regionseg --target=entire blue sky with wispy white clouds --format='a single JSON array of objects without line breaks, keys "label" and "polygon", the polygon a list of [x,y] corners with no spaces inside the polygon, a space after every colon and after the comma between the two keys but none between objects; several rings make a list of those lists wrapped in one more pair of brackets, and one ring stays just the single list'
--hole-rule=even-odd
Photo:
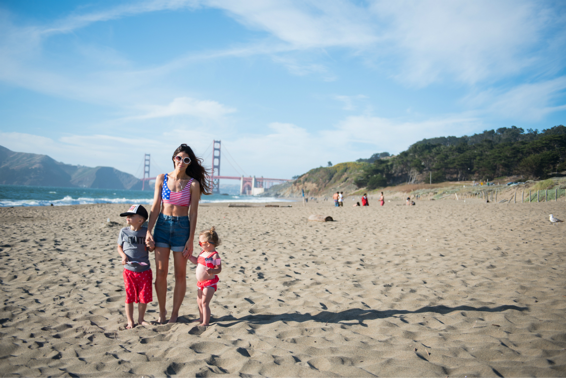
[{"label": "entire blue sky with wispy white clouds", "polygon": [[222,175],[290,178],[542,130],[566,123],[565,25],[563,2],[1,0],[0,145],[141,176],[221,139]]}]

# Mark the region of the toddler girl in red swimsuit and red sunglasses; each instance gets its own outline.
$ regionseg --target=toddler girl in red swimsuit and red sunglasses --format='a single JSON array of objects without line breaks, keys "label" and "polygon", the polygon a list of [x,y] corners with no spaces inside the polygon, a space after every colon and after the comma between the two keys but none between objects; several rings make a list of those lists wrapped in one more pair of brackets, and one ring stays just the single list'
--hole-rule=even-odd
[{"label": "toddler girl in red swimsuit and red sunglasses", "polygon": [[216,233],[215,227],[204,230],[199,235],[199,245],[203,249],[198,257],[190,256],[188,259],[196,265],[196,303],[199,305],[201,326],[208,326],[211,320],[211,308],[209,306],[212,297],[217,290],[217,283],[220,281],[217,274],[222,271],[222,261],[216,252],[216,247],[220,245],[220,237]]}]

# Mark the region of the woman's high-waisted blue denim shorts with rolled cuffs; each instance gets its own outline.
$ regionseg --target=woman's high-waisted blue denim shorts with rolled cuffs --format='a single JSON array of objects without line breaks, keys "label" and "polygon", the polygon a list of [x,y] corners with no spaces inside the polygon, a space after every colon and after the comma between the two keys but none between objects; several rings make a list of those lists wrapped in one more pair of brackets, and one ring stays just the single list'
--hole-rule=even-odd
[{"label": "woman's high-waisted blue denim shorts with rolled cuffs", "polygon": [[170,248],[173,252],[183,252],[189,232],[188,216],[159,213],[153,230],[153,241],[156,247]]}]

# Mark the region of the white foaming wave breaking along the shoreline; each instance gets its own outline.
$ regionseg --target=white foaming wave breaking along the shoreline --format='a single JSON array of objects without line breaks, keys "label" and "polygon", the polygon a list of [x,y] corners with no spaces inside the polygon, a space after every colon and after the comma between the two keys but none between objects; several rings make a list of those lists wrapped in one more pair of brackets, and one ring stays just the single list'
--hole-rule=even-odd
[{"label": "white foaming wave breaking along the shoreline", "polygon": [[[224,203],[224,202],[293,202],[292,199],[275,197],[247,197],[230,196],[226,199],[201,199],[200,203]],[[42,200],[42,199],[0,199],[0,207],[11,206],[68,206],[68,205],[89,205],[91,203],[140,203],[141,205],[152,205],[153,198],[72,198],[65,196],[62,199]]]}]

